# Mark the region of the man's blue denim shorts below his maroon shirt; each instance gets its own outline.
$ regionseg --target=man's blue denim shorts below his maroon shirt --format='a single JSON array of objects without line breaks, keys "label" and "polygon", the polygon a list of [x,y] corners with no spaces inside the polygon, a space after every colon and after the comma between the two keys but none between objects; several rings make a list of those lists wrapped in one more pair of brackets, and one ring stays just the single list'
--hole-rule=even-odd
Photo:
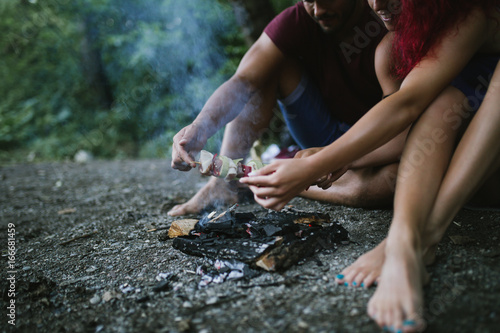
[{"label": "man's blue denim shorts below his maroon shirt", "polygon": [[292,94],[278,102],[291,136],[302,149],[327,146],[351,127],[332,116],[306,75]]}]

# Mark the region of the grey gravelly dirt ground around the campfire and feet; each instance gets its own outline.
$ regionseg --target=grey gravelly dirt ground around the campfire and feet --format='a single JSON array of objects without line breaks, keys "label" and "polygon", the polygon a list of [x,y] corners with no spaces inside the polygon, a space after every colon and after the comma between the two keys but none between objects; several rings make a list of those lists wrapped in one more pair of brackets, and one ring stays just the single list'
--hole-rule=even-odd
[{"label": "grey gravelly dirt ground around the campfire and feet", "polygon": [[[365,314],[374,288],[337,286],[334,277],[383,239],[390,210],[294,199],[342,223],[351,243],[281,274],[201,288],[194,271],[207,260],[161,235],[175,220],[166,210],[205,181],[166,160],[1,167],[1,331],[379,331]],[[499,236],[500,213],[459,213],[429,267],[427,332],[499,332]],[[166,273],[176,279],[157,291]]]}]

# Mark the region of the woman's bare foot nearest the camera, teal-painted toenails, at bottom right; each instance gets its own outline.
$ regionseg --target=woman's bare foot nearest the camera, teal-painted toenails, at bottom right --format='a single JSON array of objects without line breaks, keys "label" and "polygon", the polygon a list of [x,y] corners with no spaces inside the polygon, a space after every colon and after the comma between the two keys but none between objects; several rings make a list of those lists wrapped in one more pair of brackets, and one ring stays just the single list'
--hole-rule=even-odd
[{"label": "woman's bare foot nearest the camera, teal-painted toenails, at bottom right", "polygon": [[418,246],[398,239],[387,242],[377,290],[368,303],[368,315],[391,332],[418,332],[425,327],[423,290],[429,276]]}]

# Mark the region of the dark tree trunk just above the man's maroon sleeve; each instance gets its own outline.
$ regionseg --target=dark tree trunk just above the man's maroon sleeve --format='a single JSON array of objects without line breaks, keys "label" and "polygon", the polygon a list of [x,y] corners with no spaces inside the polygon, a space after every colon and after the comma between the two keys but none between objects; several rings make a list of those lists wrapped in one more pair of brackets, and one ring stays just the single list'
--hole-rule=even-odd
[{"label": "dark tree trunk just above the man's maroon sleeve", "polygon": [[270,0],[230,0],[245,41],[250,46],[276,13]]}]

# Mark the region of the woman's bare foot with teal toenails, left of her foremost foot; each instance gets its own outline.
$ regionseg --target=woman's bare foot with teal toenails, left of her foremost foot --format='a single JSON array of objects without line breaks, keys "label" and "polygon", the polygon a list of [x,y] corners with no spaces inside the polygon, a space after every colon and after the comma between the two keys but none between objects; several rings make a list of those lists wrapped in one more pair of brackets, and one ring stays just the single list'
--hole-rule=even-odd
[{"label": "woman's bare foot with teal toenails, left of her foremost foot", "polygon": [[353,287],[370,287],[377,281],[385,259],[384,239],[373,250],[363,254],[351,266],[337,275],[336,281]]}]

